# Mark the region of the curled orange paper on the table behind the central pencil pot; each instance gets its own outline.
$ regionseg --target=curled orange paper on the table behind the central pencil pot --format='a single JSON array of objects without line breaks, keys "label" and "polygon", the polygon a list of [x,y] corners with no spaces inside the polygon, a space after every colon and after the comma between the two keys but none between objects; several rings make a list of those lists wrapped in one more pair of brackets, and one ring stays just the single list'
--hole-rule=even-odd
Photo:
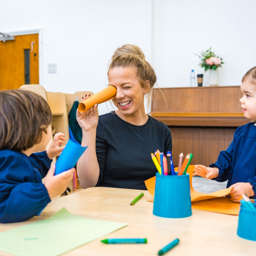
[{"label": "curled orange paper on the table behind the central pencil pot", "polygon": [[[212,193],[202,193],[195,191],[192,187],[193,170],[194,165],[190,165],[187,170],[190,181],[190,196],[192,202],[192,209],[232,215],[239,214],[240,203],[234,203],[230,200],[229,197],[224,197],[230,193],[231,188],[225,188]],[[178,167],[175,168],[175,171],[178,171]],[[154,197],[155,194],[155,183],[156,177],[152,177],[145,181],[147,190],[152,197]],[[154,199],[149,201],[154,202]]]}]

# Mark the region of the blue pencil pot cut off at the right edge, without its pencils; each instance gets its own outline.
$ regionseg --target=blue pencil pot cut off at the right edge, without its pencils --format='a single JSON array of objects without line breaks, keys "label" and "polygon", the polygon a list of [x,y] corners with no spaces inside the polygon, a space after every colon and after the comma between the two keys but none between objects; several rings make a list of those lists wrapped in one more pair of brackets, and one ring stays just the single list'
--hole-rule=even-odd
[{"label": "blue pencil pot cut off at the right edge, without its pencils", "polygon": [[240,206],[237,235],[252,241],[256,241],[256,211],[247,210]]}]

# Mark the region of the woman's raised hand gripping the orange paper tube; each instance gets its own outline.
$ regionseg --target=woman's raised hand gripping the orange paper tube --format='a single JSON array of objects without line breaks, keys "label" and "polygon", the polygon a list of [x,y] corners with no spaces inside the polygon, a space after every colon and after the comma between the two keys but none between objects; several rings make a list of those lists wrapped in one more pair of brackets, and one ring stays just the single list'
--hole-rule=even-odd
[{"label": "woman's raised hand gripping the orange paper tube", "polygon": [[[88,99],[89,97],[90,94],[88,96],[85,95],[85,98],[83,97],[82,101]],[[84,113],[80,113],[78,109],[76,110],[76,119],[83,132],[88,132],[96,129],[99,120],[97,106],[98,104],[95,104],[91,109],[88,109]]]}]

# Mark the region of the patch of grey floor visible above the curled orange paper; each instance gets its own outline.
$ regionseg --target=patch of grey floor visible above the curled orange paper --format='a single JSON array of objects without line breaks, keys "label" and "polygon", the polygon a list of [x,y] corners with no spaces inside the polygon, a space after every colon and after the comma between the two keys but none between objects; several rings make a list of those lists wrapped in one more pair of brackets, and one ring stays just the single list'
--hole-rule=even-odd
[{"label": "patch of grey floor visible above the curled orange paper", "polygon": [[215,180],[208,180],[200,176],[194,176],[192,179],[192,186],[194,190],[203,193],[211,193],[226,188],[227,181],[217,182]]}]

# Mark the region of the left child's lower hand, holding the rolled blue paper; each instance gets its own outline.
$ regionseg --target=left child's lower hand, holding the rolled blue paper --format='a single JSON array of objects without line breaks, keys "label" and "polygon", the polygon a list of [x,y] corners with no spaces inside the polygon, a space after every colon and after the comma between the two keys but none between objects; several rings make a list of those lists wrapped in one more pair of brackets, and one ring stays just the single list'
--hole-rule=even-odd
[{"label": "left child's lower hand, holding the rolled blue paper", "polygon": [[53,198],[66,191],[67,186],[72,180],[75,168],[62,172],[54,176],[55,165],[53,165],[45,176],[44,185],[49,197]]}]

